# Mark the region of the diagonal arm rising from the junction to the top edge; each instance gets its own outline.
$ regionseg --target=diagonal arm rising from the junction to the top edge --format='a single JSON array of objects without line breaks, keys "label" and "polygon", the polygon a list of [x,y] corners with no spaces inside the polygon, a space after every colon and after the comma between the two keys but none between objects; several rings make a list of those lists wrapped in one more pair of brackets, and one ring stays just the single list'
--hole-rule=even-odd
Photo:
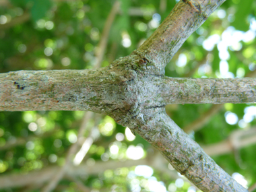
[{"label": "diagonal arm rising from the junction to the top edge", "polygon": [[158,29],[135,51],[160,73],[183,42],[226,0],[181,0]]}]

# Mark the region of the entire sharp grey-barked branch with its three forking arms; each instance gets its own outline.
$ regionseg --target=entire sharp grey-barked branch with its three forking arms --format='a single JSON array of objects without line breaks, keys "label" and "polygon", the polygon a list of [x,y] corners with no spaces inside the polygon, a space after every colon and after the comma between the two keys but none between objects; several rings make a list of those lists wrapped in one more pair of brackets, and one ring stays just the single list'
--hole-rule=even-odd
[{"label": "entire sharp grey-barked branch with its three forking arms", "polygon": [[[223,2],[180,1],[137,51],[109,67],[3,73],[0,110],[92,110],[110,115],[149,141],[202,191],[247,191],[164,111],[164,106],[175,99],[177,103],[200,102],[198,98],[210,103],[255,102],[253,79],[166,79],[163,75],[166,63],[181,44]],[[241,90],[242,86],[248,88]],[[240,92],[234,93],[237,90]]]}]

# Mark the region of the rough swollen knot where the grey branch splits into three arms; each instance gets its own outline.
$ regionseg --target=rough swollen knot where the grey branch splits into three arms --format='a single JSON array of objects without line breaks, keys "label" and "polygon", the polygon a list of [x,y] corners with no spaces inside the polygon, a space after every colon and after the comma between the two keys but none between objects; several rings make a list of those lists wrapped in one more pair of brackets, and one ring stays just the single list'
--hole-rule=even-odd
[{"label": "rough swollen knot where the grey branch splits into three arms", "polygon": [[117,72],[122,71],[128,77],[123,84],[119,85],[123,86],[124,90],[120,93],[123,105],[112,110],[110,116],[117,123],[131,129],[145,125],[146,111],[149,108],[165,106],[165,102],[159,94],[162,75],[158,75],[159,71],[146,57],[134,53],[118,59],[111,67]]}]

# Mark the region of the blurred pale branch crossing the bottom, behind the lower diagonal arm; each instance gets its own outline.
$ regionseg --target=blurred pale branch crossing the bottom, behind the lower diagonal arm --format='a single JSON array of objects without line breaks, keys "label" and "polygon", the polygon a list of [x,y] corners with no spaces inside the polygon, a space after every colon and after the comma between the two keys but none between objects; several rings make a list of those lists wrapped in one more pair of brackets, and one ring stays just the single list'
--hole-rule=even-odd
[{"label": "blurred pale branch crossing the bottom, behind the lower diagonal arm", "polygon": [[[231,138],[234,138],[230,136],[225,141],[220,141],[219,143],[201,147],[206,154],[210,156],[216,156],[232,152],[234,148],[243,148],[256,142],[256,128],[251,128],[246,131],[234,131],[231,133],[231,135],[236,135],[237,137],[235,138],[237,139],[230,141]],[[238,145],[233,146],[233,142],[237,142]],[[158,154],[154,154],[154,156],[148,155],[146,158],[141,160],[126,160],[125,162],[109,160],[107,162],[96,162],[94,166],[88,166],[86,163],[82,163],[79,166],[70,166],[67,168],[67,174],[71,177],[77,177],[83,174],[99,174],[106,169],[116,169],[125,166],[137,166],[140,164],[146,164],[148,166],[152,166],[156,170],[166,172],[166,174],[168,174],[172,179],[179,178],[176,172],[167,168],[166,160],[164,160],[164,158]],[[0,189],[6,187],[24,187],[26,185],[30,185],[32,182],[42,184],[49,181],[49,179],[51,179],[59,170],[61,170],[61,167],[59,166],[49,166],[42,168],[41,170],[28,172],[26,175],[19,173],[2,174],[0,177]]]}]

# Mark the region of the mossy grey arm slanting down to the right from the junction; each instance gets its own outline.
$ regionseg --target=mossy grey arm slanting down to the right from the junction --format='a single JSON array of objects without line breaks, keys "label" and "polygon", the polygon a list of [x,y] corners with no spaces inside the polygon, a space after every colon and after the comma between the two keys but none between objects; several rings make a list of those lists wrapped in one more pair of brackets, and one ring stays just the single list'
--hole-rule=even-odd
[{"label": "mossy grey arm slanting down to the right from the junction", "polygon": [[207,156],[199,145],[184,133],[164,108],[143,111],[143,122],[135,129],[150,142],[181,174],[202,191],[247,191]]}]

